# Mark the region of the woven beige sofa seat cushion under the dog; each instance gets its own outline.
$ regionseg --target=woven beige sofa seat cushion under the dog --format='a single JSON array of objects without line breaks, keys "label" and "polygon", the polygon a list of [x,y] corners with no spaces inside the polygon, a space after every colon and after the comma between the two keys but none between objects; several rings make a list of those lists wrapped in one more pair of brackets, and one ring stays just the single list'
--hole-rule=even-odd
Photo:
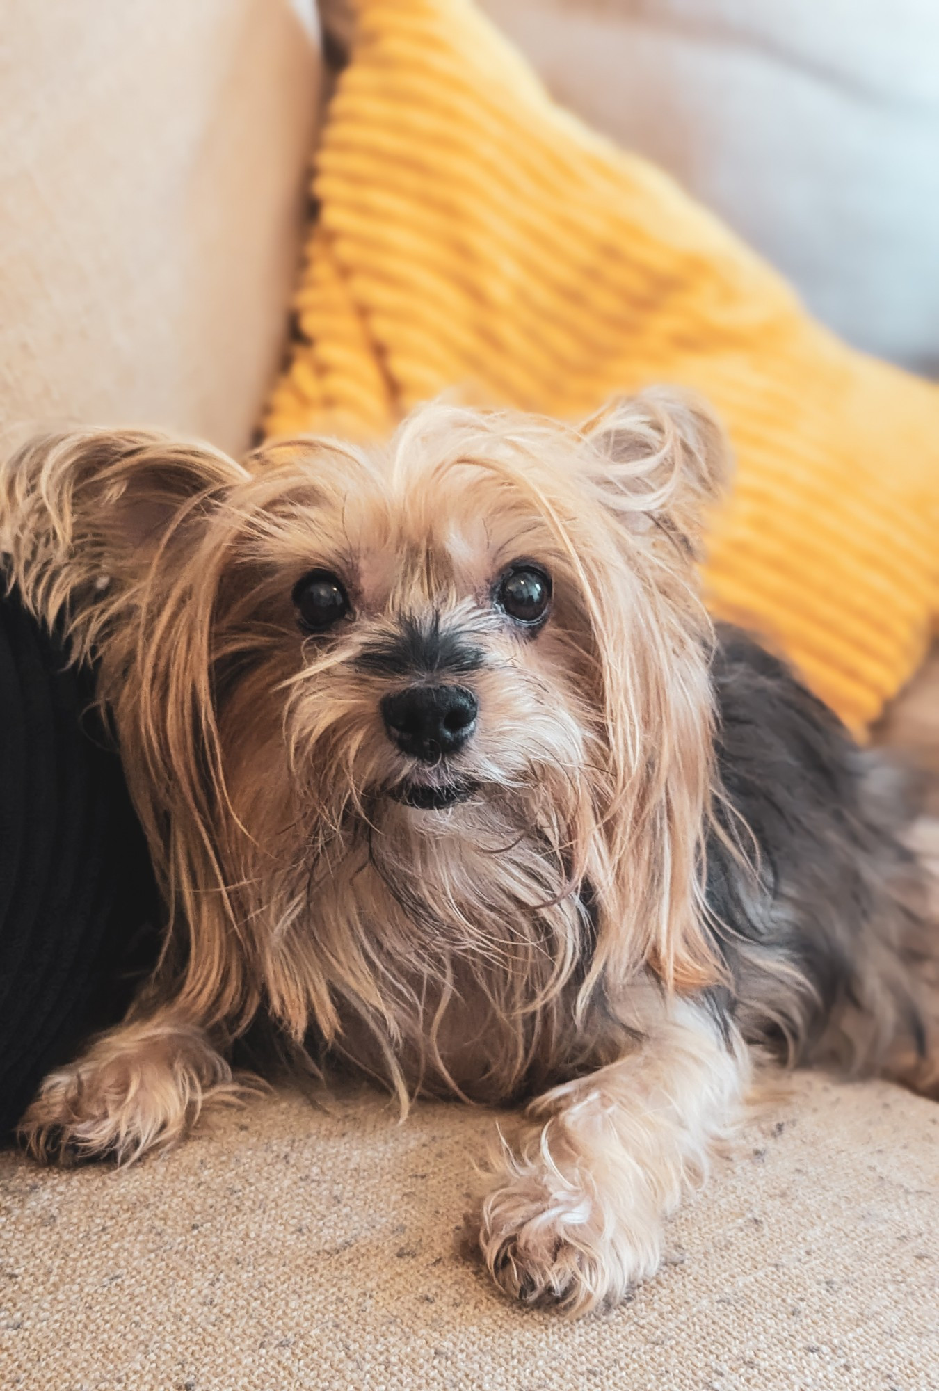
[{"label": "woven beige sofa seat cushion under the dog", "polygon": [[[939,1107],[803,1075],[608,1316],[466,1262],[495,1117],[252,1102],[113,1173],[0,1155],[0,1384],[22,1391],[926,1391]],[[6,1200],[4,1200],[6,1199]]]}]

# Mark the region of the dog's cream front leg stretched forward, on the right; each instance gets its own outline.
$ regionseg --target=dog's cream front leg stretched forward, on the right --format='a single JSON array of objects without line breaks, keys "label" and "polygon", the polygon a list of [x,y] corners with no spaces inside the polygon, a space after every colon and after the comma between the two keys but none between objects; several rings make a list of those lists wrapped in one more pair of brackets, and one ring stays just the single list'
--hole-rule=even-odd
[{"label": "dog's cream front leg stretched forward, on the right", "polygon": [[499,1285],[579,1314],[654,1274],[664,1220],[704,1177],[747,1075],[736,1035],[705,1006],[673,1000],[634,1053],[538,1097],[481,1207]]}]

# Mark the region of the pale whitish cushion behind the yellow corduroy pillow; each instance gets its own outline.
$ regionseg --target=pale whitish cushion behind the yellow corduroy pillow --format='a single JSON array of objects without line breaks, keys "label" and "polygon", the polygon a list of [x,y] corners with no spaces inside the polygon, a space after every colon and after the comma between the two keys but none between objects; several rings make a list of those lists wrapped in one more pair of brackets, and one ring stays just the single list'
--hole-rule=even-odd
[{"label": "pale whitish cushion behind the yellow corduroy pillow", "polygon": [[856,345],[939,373],[935,0],[483,0]]}]

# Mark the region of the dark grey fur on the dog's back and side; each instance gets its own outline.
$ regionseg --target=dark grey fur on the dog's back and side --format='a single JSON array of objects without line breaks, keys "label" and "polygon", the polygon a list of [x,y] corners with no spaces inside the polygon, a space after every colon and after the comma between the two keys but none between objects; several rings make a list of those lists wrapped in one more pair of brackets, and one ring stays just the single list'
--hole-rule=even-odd
[{"label": "dark grey fur on the dog's back and side", "polygon": [[793,1061],[896,1063],[906,1075],[925,1054],[928,1013],[906,779],[737,629],[718,629],[714,686],[725,800],[707,893],[733,978],[719,1003],[750,1042]]}]

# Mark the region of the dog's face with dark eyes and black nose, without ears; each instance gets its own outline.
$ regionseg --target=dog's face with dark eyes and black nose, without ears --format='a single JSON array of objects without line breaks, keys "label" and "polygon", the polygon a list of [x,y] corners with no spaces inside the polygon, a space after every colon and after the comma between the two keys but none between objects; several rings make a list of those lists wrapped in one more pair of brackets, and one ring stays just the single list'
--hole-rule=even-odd
[{"label": "dog's face with dark eyes and black nose, without ears", "polygon": [[[494,451],[472,424],[430,440],[420,424],[394,456],[274,449],[232,495],[250,520],[224,547],[218,591],[234,604],[216,637],[259,644],[224,702],[225,743],[263,701],[270,757],[281,744],[306,818],[335,830],[524,829],[576,800],[588,764],[602,776],[591,608],[616,547],[594,536],[604,581],[572,549],[570,515],[552,524],[573,480],[558,499],[524,448]],[[277,501],[256,512],[252,494],[274,480]]]}]

